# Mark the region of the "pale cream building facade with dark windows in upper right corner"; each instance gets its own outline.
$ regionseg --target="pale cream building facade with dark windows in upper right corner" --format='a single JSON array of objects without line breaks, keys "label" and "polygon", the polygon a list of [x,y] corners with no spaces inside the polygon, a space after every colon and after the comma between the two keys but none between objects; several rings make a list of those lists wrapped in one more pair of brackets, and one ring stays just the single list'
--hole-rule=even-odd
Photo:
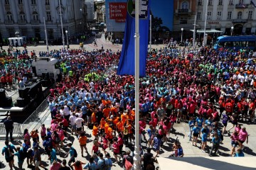
[{"label": "pale cream building facade with dark windows in upper right corner", "polygon": [[198,29],[204,28],[207,7],[206,29],[221,30],[224,35],[255,34],[256,11],[250,2],[251,0],[208,0],[206,4],[205,0],[197,0]]}]

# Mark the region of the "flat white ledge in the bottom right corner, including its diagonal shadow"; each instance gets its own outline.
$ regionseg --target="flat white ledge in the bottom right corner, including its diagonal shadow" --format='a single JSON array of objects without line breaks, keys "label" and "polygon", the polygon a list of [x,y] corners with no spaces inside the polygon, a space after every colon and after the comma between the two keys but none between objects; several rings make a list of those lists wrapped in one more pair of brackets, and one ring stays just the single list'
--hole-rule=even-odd
[{"label": "flat white ledge in the bottom right corner, including its diagonal shadow", "polygon": [[161,170],[253,170],[256,167],[256,157],[182,157],[182,158],[156,158]]}]

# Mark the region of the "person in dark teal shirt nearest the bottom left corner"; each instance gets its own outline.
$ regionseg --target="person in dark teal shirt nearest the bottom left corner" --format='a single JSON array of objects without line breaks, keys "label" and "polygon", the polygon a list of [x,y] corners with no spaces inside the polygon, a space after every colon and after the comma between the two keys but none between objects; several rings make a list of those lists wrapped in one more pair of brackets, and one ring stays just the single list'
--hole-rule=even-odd
[{"label": "person in dark teal shirt nearest the bottom left corner", "polygon": [[9,141],[6,140],[4,142],[5,146],[2,149],[2,155],[5,156],[6,162],[9,163],[10,169],[12,169],[14,165],[14,150],[17,152],[17,149],[14,145],[9,145]]}]

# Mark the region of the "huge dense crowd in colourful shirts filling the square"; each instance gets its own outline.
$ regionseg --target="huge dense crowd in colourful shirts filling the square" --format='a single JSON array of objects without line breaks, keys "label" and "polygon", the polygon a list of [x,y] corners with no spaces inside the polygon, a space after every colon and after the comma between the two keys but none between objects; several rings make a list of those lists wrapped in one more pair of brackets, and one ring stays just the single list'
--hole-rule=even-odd
[{"label": "huge dense crowd in colourful shirts filling the square", "polygon": [[[22,79],[31,70],[30,57],[16,53],[1,55],[2,77],[9,74]],[[42,141],[50,169],[111,169],[110,152],[120,166],[131,169],[133,154],[124,146],[134,149],[134,77],[116,74],[120,52],[54,50],[48,55],[58,59],[62,73],[61,81],[50,89],[51,125],[25,130],[22,147],[15,148],[6,139],[2,151],[6,161],[12,162],[16,155],[20,168],[26,158],[29,166],[34,164],[38,169],[42,166],[38,152]],[[207,47],[189,50],[169,46],[149,52],[147,76],[140,80],[139,90],[143,169],[155,169],[154,160],[176,132],[176,123],[189,128],[188,141],[192,146],[200,145],[202,152],[221,154],[218,147],[230,136],[230,156],[242,157],[248,134],[240,123],[250,124],[255,118],[255,62],[254,53],[246,49],[217,52]],[[76,136],[80,148],[68,142],[68,152],[63,155],[63,141],[69,141],[71,135]],[[93,140],[92,150],[87,149],[87,137]],[[63,158],[69,155],[68,161],[60,164],[57,154]],[[90,155],[90,159],[76,161],[78,154]],[[170,156],[184,155],[186,151],[176,140]],[[13,162],[9,165],[12,168]]]}]

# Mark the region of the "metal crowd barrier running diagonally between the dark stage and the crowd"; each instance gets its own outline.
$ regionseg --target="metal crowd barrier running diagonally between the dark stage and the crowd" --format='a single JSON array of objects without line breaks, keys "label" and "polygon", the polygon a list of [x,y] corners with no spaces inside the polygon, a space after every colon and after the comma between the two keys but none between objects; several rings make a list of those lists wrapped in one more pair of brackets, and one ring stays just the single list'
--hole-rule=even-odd
[{"label": "metal crowd barrier running diagonally between the dark stage and the crowd", "polygon": [[[41,113],[43,113],[43,111],[46,110],[47,106],[48,106],[48,101],[47,101],[48,97],[41,103],[40,106],[38,106],[38,108],[36,108],[36,111],[34,111],[23,123],[23,129],[36,129],[36,126],[38,126],[38,123],[43,123],[44,120],[46,120],[48,112],[45,113],[45,115],[43,115],[42,118],[39,118],[39,116],[41,115]],[[46,118],[45,118],[46,116]],[[35,125],[35,122],[36,125]],[[34,127],[33,127],[34,126]],[[32,129],[32,130],[33,130]]]}]

